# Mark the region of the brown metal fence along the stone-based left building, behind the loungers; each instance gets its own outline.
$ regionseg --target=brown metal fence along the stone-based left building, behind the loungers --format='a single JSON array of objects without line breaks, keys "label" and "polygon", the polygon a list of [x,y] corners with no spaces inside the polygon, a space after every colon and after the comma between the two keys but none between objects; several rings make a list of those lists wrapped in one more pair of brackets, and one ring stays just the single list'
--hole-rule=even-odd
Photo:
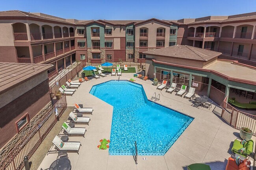
[{"label": "brown metal fence along the stone-based left building, behind the loungers", "polygon": [[21,170],[24,167],[24,156],[31,158],[33,153],[45,139],[46,135],[50,132],[54,124],[57,122],[56,110],[59,115],[67,108],[66,95],[56,95],[56,103],[52,108],[41,117],[35,124],[28,124],[32,126],[30,131],[24,135],[16,144],[9,154],[7,154],[0,162],[0,170]]}]

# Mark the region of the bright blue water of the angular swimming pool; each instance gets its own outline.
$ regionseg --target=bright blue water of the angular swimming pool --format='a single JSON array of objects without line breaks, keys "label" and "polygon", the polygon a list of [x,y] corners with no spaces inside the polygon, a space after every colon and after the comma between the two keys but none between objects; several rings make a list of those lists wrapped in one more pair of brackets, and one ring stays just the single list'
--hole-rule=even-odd
[{"label": "bright blue water of the angular swimming pool", "polygon": [[111,80],[90,93],[113,106],[110,155],[164,155],[193,118],[148,101],[143,87]]}]

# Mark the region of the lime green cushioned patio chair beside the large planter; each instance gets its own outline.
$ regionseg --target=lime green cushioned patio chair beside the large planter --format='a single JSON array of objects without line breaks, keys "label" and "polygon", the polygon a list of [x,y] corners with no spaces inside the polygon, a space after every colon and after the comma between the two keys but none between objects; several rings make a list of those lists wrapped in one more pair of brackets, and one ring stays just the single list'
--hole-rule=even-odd
[{"label": "lime green cushioned patio chair beside the large planter", "polygon": [[[253,151],[253,144],[254,144],[254,142],[253,142],[252,139],[247,141],[244,145],[241,144],[240,140],[235,139],[231,151],[234,152],[235,154],[239,154],[243,157],[247,157]],[[245,152],[243,152],[243,153],[239,152],[238,150],[241,149],[241,148],[245,148]]]}]

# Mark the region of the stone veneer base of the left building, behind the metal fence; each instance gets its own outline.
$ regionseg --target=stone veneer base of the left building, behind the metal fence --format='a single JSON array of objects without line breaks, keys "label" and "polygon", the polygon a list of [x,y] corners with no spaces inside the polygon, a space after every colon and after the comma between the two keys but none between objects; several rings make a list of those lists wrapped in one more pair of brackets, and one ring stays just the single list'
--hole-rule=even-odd
[{"label": "stone veneer base of the left building, behind the metal fence", "polygon": [[16,134],[3,148],[0,150],[0,162],[2,159],[8,155],[13,148],[17,148],[17,143],[24,137],[27,137],[28,133],[37,126],[37,122],[41,120],[43,115],[52,107],[52,102],[49,102],[37,115],[30,120],[30,122],[18,133]]}]

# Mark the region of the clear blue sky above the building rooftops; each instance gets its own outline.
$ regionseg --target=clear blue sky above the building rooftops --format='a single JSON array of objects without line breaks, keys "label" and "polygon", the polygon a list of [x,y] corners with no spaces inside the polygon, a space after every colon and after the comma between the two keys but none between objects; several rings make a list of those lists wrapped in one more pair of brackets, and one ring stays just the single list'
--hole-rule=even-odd
[{"label": "clear blue sky above the building rooftops", "polygon": [[256,0],[2,0],[0,11],[8,10],[79,20],[177,20],[254,12]]}]

